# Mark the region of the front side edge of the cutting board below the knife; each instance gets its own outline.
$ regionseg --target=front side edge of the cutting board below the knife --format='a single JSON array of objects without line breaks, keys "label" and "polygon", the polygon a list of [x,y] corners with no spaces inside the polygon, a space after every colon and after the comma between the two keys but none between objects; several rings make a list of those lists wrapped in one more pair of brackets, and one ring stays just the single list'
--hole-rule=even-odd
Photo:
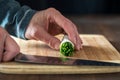
[{"label": "front side edge of the cutting board below the knife", "polygon": [[95,74],[120,72],[119,66],[58,66],[15,62],[1,64],[0,72],[6,74]]}]

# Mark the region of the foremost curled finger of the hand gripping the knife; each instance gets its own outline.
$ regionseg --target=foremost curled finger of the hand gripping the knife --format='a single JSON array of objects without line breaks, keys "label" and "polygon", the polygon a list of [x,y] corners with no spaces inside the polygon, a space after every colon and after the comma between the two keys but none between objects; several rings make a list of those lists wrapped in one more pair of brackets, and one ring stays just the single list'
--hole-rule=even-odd
[{"label": "foremost curled finger of the hand gripping the knife", "polygon": [[20,51],[19,46],[17,43],[7,35],[5,40],[5,52],[3,54],[3,61],[10,61],[12,60]]}]

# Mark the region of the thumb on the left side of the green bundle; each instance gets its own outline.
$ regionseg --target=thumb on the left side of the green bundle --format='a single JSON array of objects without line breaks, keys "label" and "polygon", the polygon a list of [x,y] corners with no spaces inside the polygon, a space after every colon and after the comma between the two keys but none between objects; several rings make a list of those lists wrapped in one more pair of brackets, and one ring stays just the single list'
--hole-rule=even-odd
[{"label": "thumb on the left side of the green bundle", "polygon": [[37,32],[34,34],[37,40],[41,40],[49,45],[51,48],[58,50],[60,45],[60,40],[54,36],[47,33],[44,28],[39,27]]}]

